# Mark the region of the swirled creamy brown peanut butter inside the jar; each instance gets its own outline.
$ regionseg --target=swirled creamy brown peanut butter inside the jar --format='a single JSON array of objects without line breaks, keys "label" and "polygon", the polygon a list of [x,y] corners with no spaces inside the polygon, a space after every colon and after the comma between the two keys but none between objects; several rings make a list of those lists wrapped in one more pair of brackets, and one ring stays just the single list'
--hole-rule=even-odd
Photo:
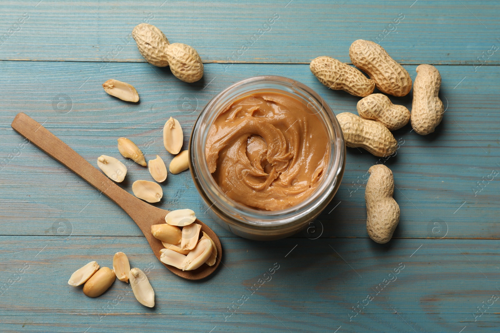
[{"label": "swirled creamy brown peanut butter inside the jar", "polygon": [[329,139],[307,106],[278,91],[234,100],[210,127],[205,154],[232,200],[276,211],[305,200],[321,179]]}]

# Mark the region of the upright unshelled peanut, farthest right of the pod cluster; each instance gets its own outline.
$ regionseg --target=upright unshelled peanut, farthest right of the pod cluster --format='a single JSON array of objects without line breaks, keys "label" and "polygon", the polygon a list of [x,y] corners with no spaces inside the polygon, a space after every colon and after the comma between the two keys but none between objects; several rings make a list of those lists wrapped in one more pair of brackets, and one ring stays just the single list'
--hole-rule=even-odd
[{"label": "upright unshelled peanut, farthest right of the pod cluster", "polygon": [[441,75],[432,65],[416,67],[411,103],[411,127],[420,135],[427,135],[439,125],[444,114],[444,105],[437,96],[441,86]]}]

